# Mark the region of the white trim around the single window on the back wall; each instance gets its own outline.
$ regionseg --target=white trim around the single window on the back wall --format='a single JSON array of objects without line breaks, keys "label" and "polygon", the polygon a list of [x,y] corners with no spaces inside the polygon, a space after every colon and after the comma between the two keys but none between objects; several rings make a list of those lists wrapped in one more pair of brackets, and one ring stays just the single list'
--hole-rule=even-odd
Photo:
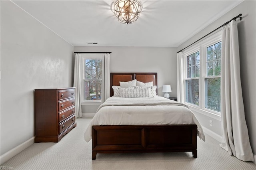
[{"label": "white trim around the single window on the back wall", "polygon": [[[84,59],[102,59],[102,65],[104,65],[104,56],[101,54],[81,54],[81,105],[101,105],[101,100],[92,100],[92,101],[85,101],[84,100],[84,67],[85,62]],[[103,69],[103,68],[102,68]]]}]

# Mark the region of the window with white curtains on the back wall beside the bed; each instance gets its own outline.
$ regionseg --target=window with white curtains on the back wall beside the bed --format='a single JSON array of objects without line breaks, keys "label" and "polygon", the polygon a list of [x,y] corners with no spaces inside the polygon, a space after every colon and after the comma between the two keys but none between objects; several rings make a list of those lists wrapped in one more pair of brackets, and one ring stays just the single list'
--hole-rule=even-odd
[{"label": "window with white curtains on the back wall beside the bed", "polygon": [[104,57],[82,54],[82,102],[101,102]]}]

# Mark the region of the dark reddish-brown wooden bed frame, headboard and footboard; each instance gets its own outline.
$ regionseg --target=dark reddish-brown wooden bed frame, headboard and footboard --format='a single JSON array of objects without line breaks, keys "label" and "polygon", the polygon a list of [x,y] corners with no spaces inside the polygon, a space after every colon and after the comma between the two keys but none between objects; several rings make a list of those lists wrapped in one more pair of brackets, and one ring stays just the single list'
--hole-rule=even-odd
[{"label": "dark reddish-brown wooden bed frame, headboard and footboard", "polygon": [[[157,85],[157,73],[110,73],[112,85],[137,79]],[[157,92],[157,91],[156,91]],[[92,159],[97,153],[192,152],[197,158],[196,125],[92,126]]]}]

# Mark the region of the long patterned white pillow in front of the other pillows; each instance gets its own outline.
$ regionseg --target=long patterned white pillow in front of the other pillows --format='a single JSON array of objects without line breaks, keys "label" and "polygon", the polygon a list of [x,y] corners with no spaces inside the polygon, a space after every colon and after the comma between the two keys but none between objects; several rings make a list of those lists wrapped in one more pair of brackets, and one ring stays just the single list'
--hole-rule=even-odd
[{"label": "long patterned white pillow in front of the other pillows", "polygon": [[120,88],[120,97],[135,98],[135,97],[153,97],[151,87],[134,87]]}]

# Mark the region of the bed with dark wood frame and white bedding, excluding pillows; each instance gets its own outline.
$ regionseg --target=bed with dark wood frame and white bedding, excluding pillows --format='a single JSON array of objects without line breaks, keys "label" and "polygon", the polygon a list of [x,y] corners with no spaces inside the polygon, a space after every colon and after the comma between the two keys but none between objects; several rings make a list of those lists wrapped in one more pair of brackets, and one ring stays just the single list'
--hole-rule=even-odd
[{"label": "bed with dark wood frame and white bedding, excluding pillows", "polygon": [[[197,158],[197,136],[205,140],[204,133],[187,106],[157,96],[133,99],[113,96],[112,86],[135,79],[157,86],[157,73],[110,74],[111,97],[102,104],[105,106],[100,106],[84,133],[86,142],[92,139],[92,159],[96,159],[97,153],[126,152],[192,152]],[[124,100],[133,104],[143,100],[150,105],[118,105]],[[154,100],[160,100],[162,105],[151,105]],[[112,106],[113,103],[117,105]]]}]

